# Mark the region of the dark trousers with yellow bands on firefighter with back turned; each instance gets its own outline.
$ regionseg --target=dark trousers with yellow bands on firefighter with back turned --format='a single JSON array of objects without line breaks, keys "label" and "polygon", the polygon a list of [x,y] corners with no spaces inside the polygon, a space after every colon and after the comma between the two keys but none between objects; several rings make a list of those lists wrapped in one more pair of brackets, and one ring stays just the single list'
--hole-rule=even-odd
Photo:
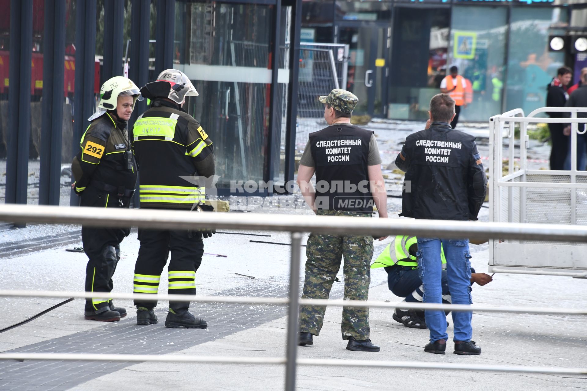
[{"label": "dark trousers with yellow bands on firefighter with back turned", "polygon": [[[193,231],[139,229],[139,256],[134,267],[134,293],[157,294],[161,273],[171,253],[168,269],[168,294],[195,295],[195,271],[202,263],[202,234]],[[156,300],[135,300],[134,305],[147,309]],[[187,310],[189,301],[170,301],[173,310]]]}]

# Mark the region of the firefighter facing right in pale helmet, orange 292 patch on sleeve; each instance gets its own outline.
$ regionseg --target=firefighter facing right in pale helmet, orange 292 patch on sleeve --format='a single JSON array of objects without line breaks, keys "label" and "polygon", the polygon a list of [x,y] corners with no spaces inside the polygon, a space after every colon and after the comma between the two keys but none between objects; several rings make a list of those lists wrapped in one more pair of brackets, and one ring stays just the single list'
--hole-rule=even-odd
[{"label": "firefighter facing right in pale helmet, orange 292 patch on sleeve", "polygon": [[[102,85],[98,110],[88,118],[91,123],[72,162],[72,188],[80,196],[80,206],[129,208],[137,168],[126,125],[137,98],[142,100],[139,87],[126,77],[116,76]],[[112,291],[119,245],[129,233],[130,229],[82,226],[83,250],[89,258],[86,292]],[[124,308],[114,307],[104,296],[86,300],[86,319],[114,322],[126,317]]]}]

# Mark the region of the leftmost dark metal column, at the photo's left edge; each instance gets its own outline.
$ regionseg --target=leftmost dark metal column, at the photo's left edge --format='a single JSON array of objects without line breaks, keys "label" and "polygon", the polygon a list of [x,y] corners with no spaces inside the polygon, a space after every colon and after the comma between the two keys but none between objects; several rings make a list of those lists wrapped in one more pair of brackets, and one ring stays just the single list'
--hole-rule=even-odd
[{"label": "leftmost dark metal column, at the photo's left edge", "polygon": [[33,2],[11,0],[6,203],[26,203],[31,141],[32,45]]}]

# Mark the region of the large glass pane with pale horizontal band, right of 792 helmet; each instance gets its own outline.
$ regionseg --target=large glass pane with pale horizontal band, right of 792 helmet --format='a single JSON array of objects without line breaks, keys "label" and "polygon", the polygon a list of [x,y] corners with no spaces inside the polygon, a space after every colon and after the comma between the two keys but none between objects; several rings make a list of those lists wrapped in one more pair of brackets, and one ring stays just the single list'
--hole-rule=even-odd
[{"label": "large glass pane with pale horizontal band, right of 792 helmet", "polygon": [[[178,69],[200,96],[185,109],[214,142],[218,188],[230,181],[261,181],[268,159],[271,6],[184,3],[187,15]],[[181,28],[181,25],[179,26]],[[187,55],[189,53],[189,55]]]}]

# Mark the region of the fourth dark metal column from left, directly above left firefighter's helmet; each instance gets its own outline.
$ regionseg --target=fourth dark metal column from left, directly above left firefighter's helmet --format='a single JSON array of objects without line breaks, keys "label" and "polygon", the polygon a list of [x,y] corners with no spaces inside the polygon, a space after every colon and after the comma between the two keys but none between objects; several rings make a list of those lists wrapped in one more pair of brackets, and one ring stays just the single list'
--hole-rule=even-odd
[{"label": "fourth dark metal column from left, directly above left firefighter's helmet", "polygon": [[100,84],[123,74],[123,29],[124,0],[104,0],[104,63]]}]

